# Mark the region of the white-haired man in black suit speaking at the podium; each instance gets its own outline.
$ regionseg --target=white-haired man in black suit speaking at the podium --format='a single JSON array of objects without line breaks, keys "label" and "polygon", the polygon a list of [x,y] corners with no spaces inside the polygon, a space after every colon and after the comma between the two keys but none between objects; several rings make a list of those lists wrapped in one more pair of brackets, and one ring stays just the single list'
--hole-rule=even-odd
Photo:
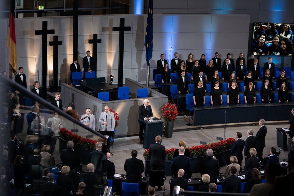
[{"label": "white-haired man in black suit speaking at the podium", "polygon": [[143,105],[139,107],[139,124],[140,124],[140,132],[139,132],[139,137],[140,137],[140,143],[143,144],[143,130],[145,129],[146,124],[143,122],[144,120],[148,120],[148,118],[153,119],[153,113],[152,113],[152,108],[149,105],[149,100],[144,99]]}]

